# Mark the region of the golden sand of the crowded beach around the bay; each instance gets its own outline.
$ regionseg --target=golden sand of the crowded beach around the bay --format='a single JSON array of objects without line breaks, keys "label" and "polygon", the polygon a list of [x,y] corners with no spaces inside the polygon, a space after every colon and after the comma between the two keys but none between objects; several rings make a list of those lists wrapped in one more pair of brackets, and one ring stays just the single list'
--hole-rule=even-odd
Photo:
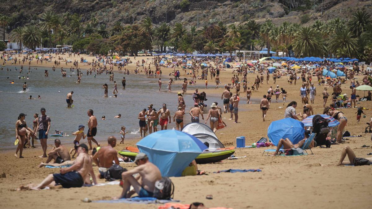
[{"label": "golden sand of the crowded beach around the bay", "polygon": [[[65,57],[66,55],[57,55]],[[87,55],[80,55],[90,62],[94,57]],[[123,57],[124,58],[124,57]],[[134,61],[133,57],[130,57]],[[145,59],[150,62],[152,57],[143,56],[136,57],[135,61]],[[70,58],[71,59],[71,58]],[[71,60],[78,60],[78,57],[73,57]],[[10,65],[7,61],[7,66]],[[21,62],[22,63],[22,62]],[[26,64],[26,62],[25,62]],[[47,64],[36,64],[36,61],[31,62],[31,67],[52,67],[52,62]],[[232,64],[235,66],[236,64]],[[4,69],[6,69],[6,67]],[[27,69],[24,65],[24,69]],[[61,66],[65,70],[72,66],[72,63]],[[60,70],[56,67],[56,71]],[[88,65],[79,66],[83,72]],[[134,70],[135,64],[129,64],[125,68]],[[142,67],[140,67],[141,70]],[[115,67],[115,69],[117,69]],[[173,68],[162,68],[164,83],[169,80],[169,73]],[[177,68],[176,68],[177,70]],[[180,69],[179,69],[180,70]],[[26,70],[24,70],[26,71]],[[180,71],[181,72],[181,71]],[[200,74],[200,72],[199,72]],[[220,80],[221,85],[219,89],[214,89],[214,80],[211,81],[209,75],[208,89],[199,88],[199,91],[205,91],[208,96],[221,96],[223,85],[231,83],[232,70],[227,69],[221,71]],[[145,78],[141,73],[138,76],[144,77],[148,82],[157,81],[158,78]],[[265,76],[265,75],[264,75]],[[108,76],[107,76],[108,77]],[[173,76],[172,76],[173,77]],[[190,75],[183,75],[191,79]],[[256,74],[249,73],[248,86],[250,87],[254,82]],[[361,75],[355,76],[362,78]],[[265,76],[266,78],[266,76]],[[116,78],[118,79],[118,78]],[[107,78],[108,80],[108,78]],[[316,80],[316,77],[313,77]],[[200,81],[200,82],[199,82]],[[81,80],[84,82],[84,78]],[[130,82],[130,80],[127,80]],[[163,83],[163,84],[164,84]],[[181,81],[176,81],[172,85],[172,92],[176,100],[176,93],[181,91]],[[315,83],[315,82],[314,82]],[[197,84],[204,84],[203,80],[198,80]],[[223,114],[224,122],[227,127],[216,132],[219,140],[225,147],[235,146],[237,136],[246,137],[246,145],[257,142],[261,137],[267,137],[267,128],[272,121],[283,118],[286,105],[291,101],[296,101],[298,107],[297,112],[302,112],[301,97],[299,95],[299,88],[301,82],[296,85],[289,85],[287,76],[278,79],[276,84],[273,84],[272,75],[270,75],[269,84],[260,85],[260,89],[253,91],[251,100],[252,104],[246,104],[247,98],[244,93],[240,94],[239,103],[239,120],[237,124],[232,123],[230,114]],[[154,85],[157,83],[154,82]],[[165,84],[164,84],[165,85]],[[271,103],[270,109],[267,111],[266,120],[262,121],[262,112],[259,108],[259,101],[263,94],[266,94],[270,86],[275,88],[276,85],[283,87],[288,92],[288,97],[283,106],[281,97],[279,102],[275,103],[275,97]],[[341,86],[343,93],[350,95],[350,83]],[[315,97],[315,104],[312,105],[314,114],[323,113],[323,97],[321,92],[323,86],[317,86],[317,96]],[[241,88],[243,90],[243,87]],[[130,91],[130,90],[129,90]],[[191,94],[195,91],[195,86],[188,86],[187,93]],[[328,93],[331,93],[328,89]],[[235,89],[232,89],[235,92]],[[357,91],[357,94],[363,95],[363,92]],[[173,96],[173,95],[172,95]],[[331,99],[331,97],[330,97]],[[330,100],[329,99],[329,100]],[[209,101],[208,101],[209,102]],[[211,101],[212,102],[212,101]],[[222,106],[222,100],[217,101],[219,106]],[[160,102],[159,102],[160,103]],[[328,101],[327,105],[330,102]],[[186,105],[189,107],[192,104],[190,97],[187,97]],[[360,102],[357,106],[363,106],[367,109],[372,109],[372,102]],[[279,108],[283,107],[283,108]],[[209,109],[209,108],[208,108]],[[340,155],[341,149],[346,145],[351,147],[356,153],[357,157],[368,157],[368,153],[372,152],[371,147],[362,148],[362,145],[371,145],[371,134],[365,134],[366,122],[371,118],[372,110],[365,110],[367,117],[361,118],[360,123],[356,121],[356,108],[343,109],[343,113],[348,118],[345,131],[349,131],[351,135],[362,135],[361,137],[350,137],[345,143],[340,145],[332,145],[331,148],[325,149],[315,147],[312,149],[314,154],[302,156],[262,156],[266,148],[237,148],[235,149],[235,156],[244,157],[237,160],[224,160],[221,163],[198,165],[198,168],[206,171],[208,175],[202,176],[187,176],[187,177],[171,177],[174,183],[174,199],[180,200],[181,203],[190,204],[192,202],[202,202],[206,207],[227,207],[227,208],[369,208],[369,197],[371,196],[371,171],[372,166],[338,166],[336,165]],[[137,110],[135,110],[137,111]],[[138,112],[140,109],[138,109]],[[173,112],[171,115],[173,117]],[[15,113],[15,115],[18,113]],[[206,115],[205,115],[206,116]],[[189,116],[186,116],[189,117]],[[30,120],[30,119],[29,119]],[[208,122],[209,124],[209,122]],[[160,128],[159,128],[160,129]],[[115,149],[121,151],[127,146],[135,146],[140,138],[125,139],[125,144],[118,144]],[[86,142],[86,139],[82,142]],[[107,143],[103,143],[106,145]],[[72,146],[68,145],[68,148]],[[275,147],[271,147],[275,148]],[[14,147],[16,149],[16,146]],[[48,150],[52,149],[52,142],[48,141]],[[113,196],[118,196],[121,192],[121,187],[113,186],[94,186],[82,187],[73,189],[49,189],[41,191],[15,191],[15,188],[29,183],[39,183],[48,174],[58,173],[59,169],[55,168],[38,168],[38,165],[45,159],[38,158],[41,154],[41,148],[27,148],[23,150],[25,158],[18,159],[13,156],[12,151],[0,151],[0,173],[5,173],[6,178],[0,178],[0,194],[2,201],[1,208],[103,208],[112,206],[123,206],[129,208],[157,208],[158,205],[142,205],[142,204],[109,204],[109,203],[83,203],[81,200],[88,197],[91,200],[108,200]],[[128,170],[135,166],[131,164],[121,164]],[[98,172],[97,166],[94,166],[94,172]],[[262,172],[254,173],[213,173],[219,170],[227,169],[261,169]],[[104,183],[104,180],[98,180],[99,183]],[[213,195],[213,199],[206,199],[206,195]]]}]

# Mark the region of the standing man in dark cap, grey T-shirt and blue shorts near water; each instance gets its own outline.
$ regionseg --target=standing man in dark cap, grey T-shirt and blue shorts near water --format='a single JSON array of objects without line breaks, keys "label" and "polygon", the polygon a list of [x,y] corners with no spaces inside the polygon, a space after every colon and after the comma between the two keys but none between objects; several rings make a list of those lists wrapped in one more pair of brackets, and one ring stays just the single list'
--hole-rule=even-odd
[{"label": "standing man in dark cap, grey T-shirt and blue shorts near water", "polygon": [[36,127],[36,132],[39,131],[39,139],[40,139],[40,144],[41,148],[43,149],[43,155],[39,157],[48,157],[47,156],[47,139],[48,139],[48,132],[50,128],[50,118],[49,116],[45,115],[45,108],[42,107],[40,109],[41,116],[38,118],[38,126]]}]

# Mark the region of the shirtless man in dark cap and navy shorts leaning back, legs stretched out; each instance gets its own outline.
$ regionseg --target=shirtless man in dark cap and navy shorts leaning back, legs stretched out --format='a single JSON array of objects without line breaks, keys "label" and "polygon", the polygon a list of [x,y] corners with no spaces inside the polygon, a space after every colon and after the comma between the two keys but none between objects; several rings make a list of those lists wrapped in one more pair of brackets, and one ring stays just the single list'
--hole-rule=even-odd
[{"label": "shirtless man in dark cap and navy shorts leaning back, legs stretched out", "polygon": [[96,176],[94,176],[94,171],[92,167],[92,160],[88,153],[88,147],[86,144],[80,144],[77,148],[77,158],[74,160],[73,165],[68,168],[61,168],[60,173],[49,174],[40,184],[36,187],[31,185],[28,187],[21,186],[20,189],[33,189],[40,190],[47,186],[55,186],[55,184],[60,184],[64,188],[71,187],[82,187],[84,184],[84,179],[89,178],[88,174],[93,179],[94,184],[97,184]]}]

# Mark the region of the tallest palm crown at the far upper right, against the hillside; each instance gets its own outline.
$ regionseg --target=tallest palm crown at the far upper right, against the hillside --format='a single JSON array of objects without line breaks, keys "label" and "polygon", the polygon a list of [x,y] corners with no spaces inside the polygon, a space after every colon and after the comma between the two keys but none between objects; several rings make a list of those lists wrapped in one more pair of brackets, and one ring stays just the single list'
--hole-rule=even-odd
[{"label": "tallest palm crown at the far upper right, against the hillside", "polygon": [[358,10],[353,14],[347,26],[356,37],[359,37],[368,27],[372,27],[371,15],[365,9]]}]

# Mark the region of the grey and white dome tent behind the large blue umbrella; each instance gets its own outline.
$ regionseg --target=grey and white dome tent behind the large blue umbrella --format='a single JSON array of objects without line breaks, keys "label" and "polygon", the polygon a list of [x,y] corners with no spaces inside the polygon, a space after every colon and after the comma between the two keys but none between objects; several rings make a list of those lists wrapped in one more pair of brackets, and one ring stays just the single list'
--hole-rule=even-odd
[{"label": "grey and white dome tent behind the large blue umbrella", "polygon": [[182,132],[195,136],[203,143],[208,142],[210,149],[225,148],[212,129],[203,123],[189,123],[183,127]]}]

